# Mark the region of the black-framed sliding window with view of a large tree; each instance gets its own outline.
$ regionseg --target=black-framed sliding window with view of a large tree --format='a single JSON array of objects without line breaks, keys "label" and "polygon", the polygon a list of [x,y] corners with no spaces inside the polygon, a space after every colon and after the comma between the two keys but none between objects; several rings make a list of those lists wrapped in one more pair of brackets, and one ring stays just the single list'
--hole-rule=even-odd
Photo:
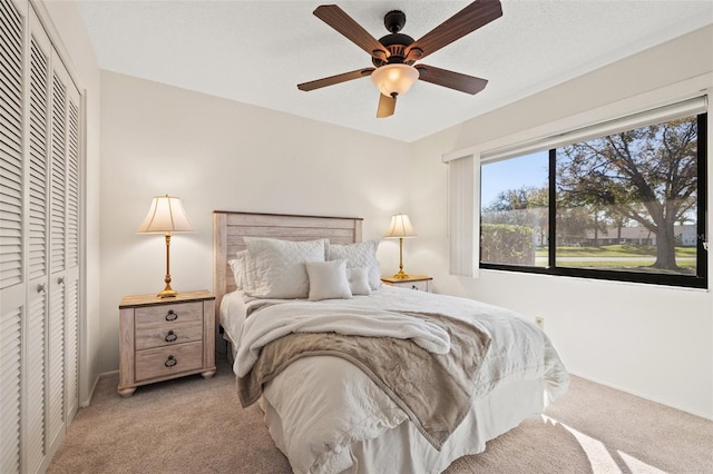
[{"label": "black-framed sliding window with view of a large tree", "polygon": [[706,287],[706,119],[484,159],[480,267]]}]

